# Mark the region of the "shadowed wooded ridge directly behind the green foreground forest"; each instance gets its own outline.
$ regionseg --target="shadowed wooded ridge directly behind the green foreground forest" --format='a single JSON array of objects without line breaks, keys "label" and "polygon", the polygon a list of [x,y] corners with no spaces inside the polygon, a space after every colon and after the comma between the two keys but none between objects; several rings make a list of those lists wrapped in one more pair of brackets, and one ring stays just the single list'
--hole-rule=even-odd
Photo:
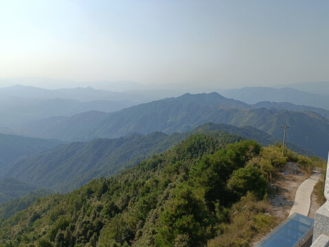
[{"label": "shadowed wooded ridge directly behind the green foreground forest", "polygon": [[[86,143],[70,143],[29,158],[22,158],[5,167],[1,171],[1,176],[31,181],[65,193],[88,183],[93,178],[113,176],[123,169],[137,165],[152,154],[171,148],[188,138],[190,134],[198,133],[213,134],[229,142],[240,140],[241,137],[255,139],[262,145],[277,141],[269,134],[253,127],[238,128],[207,123],[192,131],[174,133],[170,136],[154,132],[147,136],[132,134],[119,139],[95,139]],[[293,147],[301,152],[298,147]]]}]

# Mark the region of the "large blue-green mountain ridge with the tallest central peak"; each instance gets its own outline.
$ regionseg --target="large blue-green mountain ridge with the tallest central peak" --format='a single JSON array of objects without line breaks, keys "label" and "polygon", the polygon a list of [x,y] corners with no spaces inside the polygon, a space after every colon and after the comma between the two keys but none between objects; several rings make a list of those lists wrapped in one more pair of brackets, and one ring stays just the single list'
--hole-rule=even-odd
[{"label": "large blue-green mountain ridge with the tallest central peak", "polygon": [[[319,113],[305,112],[313,108],[304,106],[288,105],[302,110],[298,112],[281,110],[282,104],[271,104],[270,107],[269,104],[262,103],[258,106],[262,107],[256,108],[218,93],[187,93],[176,98],[139,104],[115,113],[91,111],[72,117],[52,117],[25,124],[18,130],[48,139],[88,141],[94,138],[123,137],[134,132],[185,132],[212,121],[234,126],[253,126],[282,139],[280,126],[288,124],[291,127],[287,133],[288,141],[319,156],[327,155],[328,118]],[[322,114],[327,115],[328,112],[323,110]]]}]

